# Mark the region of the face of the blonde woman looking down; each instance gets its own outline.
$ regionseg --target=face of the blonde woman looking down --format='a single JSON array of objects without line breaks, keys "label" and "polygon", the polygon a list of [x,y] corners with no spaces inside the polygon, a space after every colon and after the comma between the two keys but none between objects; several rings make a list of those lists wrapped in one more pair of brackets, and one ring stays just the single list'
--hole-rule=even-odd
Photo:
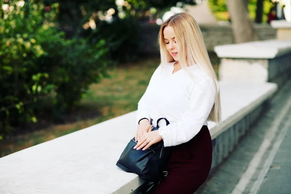
[{"label": "face of the blonde woman looking down", "polygon": [[170,55],[174,58],[175,61],[179,61],[178,58],[178,45],[176,43],[174,29],[171,26],[167,26],[163,30],[164,43]]}]

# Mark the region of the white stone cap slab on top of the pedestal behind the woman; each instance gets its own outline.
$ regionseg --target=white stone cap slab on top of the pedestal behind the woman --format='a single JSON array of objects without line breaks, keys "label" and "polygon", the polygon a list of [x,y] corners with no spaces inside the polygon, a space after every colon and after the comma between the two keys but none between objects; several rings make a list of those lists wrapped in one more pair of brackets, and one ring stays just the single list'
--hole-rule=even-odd
[{"label": "white stone cap slab on top of the pedestal behind the woman", "polygon": [[291,52],[291,40],[265,40],[215,46],[220,58],[273,59]]}]

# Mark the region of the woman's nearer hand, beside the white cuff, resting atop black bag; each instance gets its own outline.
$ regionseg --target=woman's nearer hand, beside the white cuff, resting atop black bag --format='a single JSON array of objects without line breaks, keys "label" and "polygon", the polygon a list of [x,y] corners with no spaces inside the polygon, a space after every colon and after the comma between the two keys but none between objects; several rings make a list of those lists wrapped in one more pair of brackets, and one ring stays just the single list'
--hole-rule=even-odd
[{"label": "woman's nearer hand, beside the white cuff, resting atop black bag", "polygon": [[140,141],[138,141],[137,145],[133,147],[133,149],[139,150],[143,148],[146,150],[151,145],[156,144],[162,140],[162,137],[159,135],[158,130],[150,131],[144,133],[143,136],[140,137]]}]

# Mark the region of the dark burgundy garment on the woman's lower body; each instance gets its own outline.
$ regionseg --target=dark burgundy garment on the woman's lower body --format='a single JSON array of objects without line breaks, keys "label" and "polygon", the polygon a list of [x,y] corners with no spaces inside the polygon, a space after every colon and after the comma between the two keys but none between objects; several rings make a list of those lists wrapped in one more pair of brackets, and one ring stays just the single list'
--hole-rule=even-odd
[{"label": "dark burgundy garment on the woman's lower body", "polygon": [[187,143],[173,146],[167,164],[168,176],[151,194],[194,194],[206,181],[212,162],[212,141],[207,126],[203,126]]}]

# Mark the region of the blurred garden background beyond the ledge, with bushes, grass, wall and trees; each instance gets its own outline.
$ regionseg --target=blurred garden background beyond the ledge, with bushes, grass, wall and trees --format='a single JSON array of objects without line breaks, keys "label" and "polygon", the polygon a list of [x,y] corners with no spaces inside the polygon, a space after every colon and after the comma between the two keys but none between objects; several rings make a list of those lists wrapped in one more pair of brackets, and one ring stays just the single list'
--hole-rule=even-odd
[{"label": "blurred garden background beyond the ledge, with bushes, grass, wall and trees", "polygon": [[0,157],[135,111],[176,13],[199,23],[218,77],[214,46],[273,39],[291,15],[284,0],[0,2]]}]

